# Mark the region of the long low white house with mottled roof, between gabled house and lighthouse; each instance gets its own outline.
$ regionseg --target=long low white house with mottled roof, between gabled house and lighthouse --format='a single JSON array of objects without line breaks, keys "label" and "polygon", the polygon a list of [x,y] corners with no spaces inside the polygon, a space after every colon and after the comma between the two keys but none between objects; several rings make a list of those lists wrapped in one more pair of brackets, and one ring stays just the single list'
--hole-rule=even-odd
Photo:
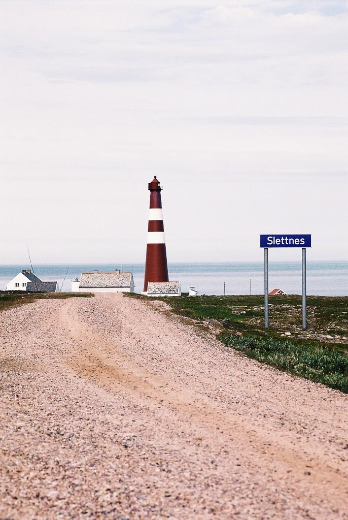
[{"label": "long low white house with mottled roof, between gabled house and lighthouse", "polygon": [[72,292],[134,292],[134,280],[131,272],[83,272],[81,280],[71,282]]}]

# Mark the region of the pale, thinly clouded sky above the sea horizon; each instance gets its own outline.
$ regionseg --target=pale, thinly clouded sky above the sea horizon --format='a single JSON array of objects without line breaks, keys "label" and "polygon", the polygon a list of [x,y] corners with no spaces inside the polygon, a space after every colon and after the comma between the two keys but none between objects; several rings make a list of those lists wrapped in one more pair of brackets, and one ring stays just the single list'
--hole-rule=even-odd
[{"label": "pale, thinly clouded sky above the sea horizon", "polygon": [[[0,0],[0,264],[348,259],[348,2]],[[300,258],[298,249],[270,260]]]}]

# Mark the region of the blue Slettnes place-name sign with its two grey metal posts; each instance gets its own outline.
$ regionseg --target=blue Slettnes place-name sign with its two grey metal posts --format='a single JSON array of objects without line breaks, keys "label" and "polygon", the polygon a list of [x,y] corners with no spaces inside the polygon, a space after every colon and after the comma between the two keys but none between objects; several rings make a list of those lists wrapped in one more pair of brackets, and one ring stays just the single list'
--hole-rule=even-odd
[{"label": "blue Slettnes place-name sign with its two grey metal posts", "polygon": [[268,305],[268,249],[302,248],[302,329],[307,328],[306,306],[306,248],[312,245],[311,235],[260,235],[260,247],[264,248],[264,326],[269,327]]}]

